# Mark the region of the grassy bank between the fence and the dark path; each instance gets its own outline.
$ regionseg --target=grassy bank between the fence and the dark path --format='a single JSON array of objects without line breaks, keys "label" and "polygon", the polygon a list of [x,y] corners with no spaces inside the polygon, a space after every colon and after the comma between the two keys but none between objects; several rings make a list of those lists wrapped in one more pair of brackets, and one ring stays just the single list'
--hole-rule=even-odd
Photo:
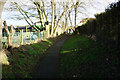
[{"label": "grassy bank between the fence and the dark path", "polygon": [[14,48],[12,54],[8,55],[10,65],[2,65],[2,77],[31,78],[29,74],[33,72],[38,62],[44,57],[44,52],[62,36]]}]

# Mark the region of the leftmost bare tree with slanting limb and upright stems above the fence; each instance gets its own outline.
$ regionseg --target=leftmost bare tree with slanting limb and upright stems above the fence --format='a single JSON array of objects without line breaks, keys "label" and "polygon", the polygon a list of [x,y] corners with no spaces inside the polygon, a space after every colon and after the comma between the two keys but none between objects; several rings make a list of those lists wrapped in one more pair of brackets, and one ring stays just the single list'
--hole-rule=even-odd
[{"label": "leftmost bare tree with slanting limb and upright stems above the fence", "polygon": [[[33,25],[33,27],[38,31],[38,29],[34,26],[34,22],[32,21],[31,16],[35,17],[37,19],[39,18],[41,25],[43,27],[45,27],[45,22],[47,22],[47,24],[49,22],[48,15],[47,15],[47,12],[45,9],[45,3],[43,0],[42,1],[31,0],[31,1],[32,1],[31,4],[34,4],[36,6],[36,8],[34,10],[37,10],[38,16],[36,16],[35,14],[32,14],[30,12],[25,11],[24,9],[22,9],[22,7],[17,2],[12,2],[12,3],[16,6],[16,8],[19,10],[19,12],[24,16],[24,19],[26,20],[26,22],[30,26]],[[28,8],[28,9],[30,9],[30,8]],[[45,17],[45,19],[44,19],[44,17]]]}]

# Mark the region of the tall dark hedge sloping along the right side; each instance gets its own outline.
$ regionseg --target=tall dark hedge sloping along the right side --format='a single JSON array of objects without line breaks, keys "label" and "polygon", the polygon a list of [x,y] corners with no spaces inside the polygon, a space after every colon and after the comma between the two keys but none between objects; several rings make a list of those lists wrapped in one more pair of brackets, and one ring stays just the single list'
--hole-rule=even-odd
[{"label": "tall dark hedge sloping along the right side", "polygon": [[112,3],[101,14],[96,14],[96,18],[90,18],[86,24],[76,28],[75,33],[87,35],[90,38],[95,36],[95,40],[107,47],[117,47],[120,45],[120,1]]}]

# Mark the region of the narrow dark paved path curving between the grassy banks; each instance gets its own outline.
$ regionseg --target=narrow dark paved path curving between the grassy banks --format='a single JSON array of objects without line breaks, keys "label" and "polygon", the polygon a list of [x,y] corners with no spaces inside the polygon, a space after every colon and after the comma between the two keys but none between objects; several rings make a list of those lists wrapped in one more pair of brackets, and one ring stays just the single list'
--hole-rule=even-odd
[{"label": "narrow dark paved path curving between the grassy banks", "polygon": [[32,78],[56,78],[58,65],[59,65],[59,52],[64,44],[65,40],[68,37],[57,41],[51,48],[49,48],[46,52],[46,56],[44,56],[43,60],[40,62],[37,71],[32,74]]}]

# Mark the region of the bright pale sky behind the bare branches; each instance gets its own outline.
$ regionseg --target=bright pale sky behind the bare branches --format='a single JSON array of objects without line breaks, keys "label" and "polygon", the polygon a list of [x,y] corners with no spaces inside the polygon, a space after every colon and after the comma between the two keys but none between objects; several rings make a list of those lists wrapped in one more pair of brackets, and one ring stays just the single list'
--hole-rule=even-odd
[{"label": "bright pale sky behind the bare branches", "polygon": [[[31,3],[29,3],[29,0],[13,0],[13,1],[17,1],[18,3],[21,3],[21,1],[22,1],[22,3],[26,3],[29,6],[33,6],[33,5],[31,5]],[[63,0],[60,0],[60,1],[63,1]],[[86,1],[86,0],[83,0],[83,1]],[[77,23],[79,23],[83,18],[87,18],[87,17],[88,18],[94,18],[94,14],[104,12],[105,8],[107,8],[107,6],[110,3],[117,2],[118,0],[91,0],[91,1],[92,1],[91,2],[92,5],[87,4],[85,6],[85,9],[78,8],[78,11],[86,13],[87,15],[78,13],[77,14]],[[4,6],[5,8],[10,6],[9,2],[10,2],[10,0],[8,0],[6,2],[5,6]],[[62,11],[63,10],[61,9],[61,12]],[[11,18],[11,16],[13,16],[13,15],[21,15],[21,14],[19,13],[19,11],[6,11],[4,9],[3,13],[2,13],[2,20],[3,21],[6,20],[8,25],[12,24],[13,26],[25,26],[25,25],[28,25],[24,19],[23,20],[17,20],[17,19]],[[49,19],[51,19],[51,18],[49,18]],[[72,22],[74,22],[74,12],[71,13],[71,19],[72,19]],[[36,22],[38,20],[33,19],[33,21]],[[74,24],[73,24],[73,26],[74,26]]]}]

